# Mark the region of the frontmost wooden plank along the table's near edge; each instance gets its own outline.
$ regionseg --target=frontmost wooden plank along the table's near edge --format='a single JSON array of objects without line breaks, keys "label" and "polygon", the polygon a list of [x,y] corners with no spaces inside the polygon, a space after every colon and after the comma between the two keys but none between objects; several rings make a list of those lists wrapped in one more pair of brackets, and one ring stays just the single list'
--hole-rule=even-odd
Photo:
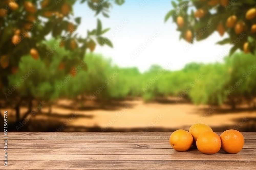
[{"label": "frontmost wooden plank along the table's near edge", "polygon": [[252,161],[9,161],[4,169],[256,169]]}]

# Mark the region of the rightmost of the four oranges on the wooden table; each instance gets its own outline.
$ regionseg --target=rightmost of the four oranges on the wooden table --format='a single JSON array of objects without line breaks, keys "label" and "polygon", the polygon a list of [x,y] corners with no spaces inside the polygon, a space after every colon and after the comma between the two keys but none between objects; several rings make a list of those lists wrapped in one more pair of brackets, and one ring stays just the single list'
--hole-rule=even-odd
[{"label": "rightmost of the four oranges on the wooden table", "polygon": [[228,153],[238,153],[244,145],[243,135],[237,130],[226,130],[220,135],[221,149]]}]

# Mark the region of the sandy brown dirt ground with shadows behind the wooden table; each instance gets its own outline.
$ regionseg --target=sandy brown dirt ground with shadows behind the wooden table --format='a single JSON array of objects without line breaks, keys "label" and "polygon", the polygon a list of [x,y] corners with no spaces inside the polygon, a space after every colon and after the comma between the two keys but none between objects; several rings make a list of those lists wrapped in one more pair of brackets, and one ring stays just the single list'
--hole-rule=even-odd
[{"label": "sandy brown dirt ground with shadows behind the wooden table", "polygon": [[[51,114],[47,114],[48,109],[44,106],[40,109],[42,113],[31,114],[32,117],[26,123],[26,130],[151,132],[181,128],[188,130],[194,123],[208,124],[216,131],[225,128],[254,131],[256,128],[256,110],[247,106],[239,106],[236,110],[231,110],[225,105],[195,106],[190,103],[144,103],[142,100],[127,100],[103,107],[95,104],[92,106],[91,103],[81,106],[72,101],[60,100],[52,107]],[[14,110],[7,110],[14,118]],[[21,112],[26,110],[21,108]]]}]

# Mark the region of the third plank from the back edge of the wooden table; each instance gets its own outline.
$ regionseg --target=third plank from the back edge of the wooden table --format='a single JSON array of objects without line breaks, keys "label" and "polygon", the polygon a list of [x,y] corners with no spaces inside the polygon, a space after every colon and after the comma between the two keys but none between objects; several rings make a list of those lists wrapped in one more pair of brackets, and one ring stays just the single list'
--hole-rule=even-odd
[{"label": "third plank from the back edge of the wooden table", "polygon": [[[246,144],[255,144],[256,140],[244,140]],[[23,144],[167,144],[169,140],[12,140],[8,143],[23,143]]]}]

